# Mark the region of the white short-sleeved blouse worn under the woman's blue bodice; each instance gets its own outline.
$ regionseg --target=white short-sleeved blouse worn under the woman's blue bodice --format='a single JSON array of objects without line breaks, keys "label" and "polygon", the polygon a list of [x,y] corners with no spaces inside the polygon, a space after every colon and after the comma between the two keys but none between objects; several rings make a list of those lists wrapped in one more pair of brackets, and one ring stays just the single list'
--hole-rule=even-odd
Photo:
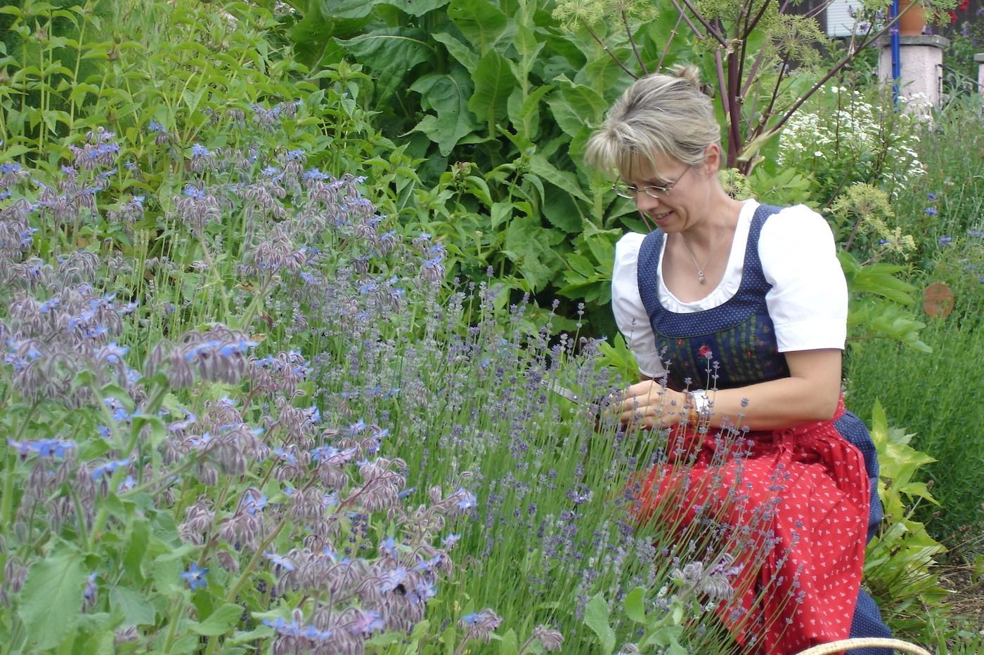
[{"label": "white short-sleeved blouse worn under the woman's blue bodice", "polygon": [[[663,283],[659,253],[659,300],[678,314],[703,312],[724,304],[741,284],[752,217],[759,203],[745,201],[738,215],[734,243],[721,282],[706,297],[683,302]],[[631,232],[615,246],[612,310],[619,330],[636,354],[643,375],[665,374],[646,307],[639,295],[637,262],[645,234]],[[666,241],[663,241],[665,248]],[[759,258],[772,288],[766,295],[779,352],[843,349],[847,336],[847,283],[837,261],[830,225],[803,205],[783,208],[769,217],[759,236]]]}]

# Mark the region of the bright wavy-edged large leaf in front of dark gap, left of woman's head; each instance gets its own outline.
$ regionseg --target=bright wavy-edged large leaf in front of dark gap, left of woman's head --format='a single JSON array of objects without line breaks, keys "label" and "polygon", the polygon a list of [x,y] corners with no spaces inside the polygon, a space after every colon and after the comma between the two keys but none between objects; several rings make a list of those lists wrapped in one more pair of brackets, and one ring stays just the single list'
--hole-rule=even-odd
[{"label": "bright wavy-edged large leaf in front of dark gap, left of woman's head", "polygon": [[426,134],[444,156],[451,153],[461,137],[479,127],[468,110],[472,89],[471,78],[461,66],[452,68],[447,75],[425,75],[410,87],[420,93],[424,109],[437,112],[437,116],[425,116],[413,129]]}]

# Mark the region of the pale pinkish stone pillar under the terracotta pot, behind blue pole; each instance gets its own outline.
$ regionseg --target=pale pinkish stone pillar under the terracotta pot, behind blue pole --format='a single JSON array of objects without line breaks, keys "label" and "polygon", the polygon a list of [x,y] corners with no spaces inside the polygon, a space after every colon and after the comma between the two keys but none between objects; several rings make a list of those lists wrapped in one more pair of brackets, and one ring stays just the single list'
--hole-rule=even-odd
[{"label": "pale pinkish stone pillar under the terracotta pot, behind blue pole", "polygon": [[[950,45],[950,39],[937,34],[918,34],[899,36],[898,42],[901,66],[898,93],[926,105],[922,111],[918,107],[910,107],[911,110],[928,114],[929,105],[939,107],[943,98],[943,51]],[[878,78],[891,83],[892,39],[881,36],[876,44],[882,48],[878,58]]]}]

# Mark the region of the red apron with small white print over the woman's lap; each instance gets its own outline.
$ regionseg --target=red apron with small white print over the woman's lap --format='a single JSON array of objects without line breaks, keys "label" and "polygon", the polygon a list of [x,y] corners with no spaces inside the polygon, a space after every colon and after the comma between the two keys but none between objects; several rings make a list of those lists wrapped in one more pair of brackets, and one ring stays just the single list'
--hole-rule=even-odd
[{"label": "red apron with small white print over the woman's lap", "polygon": [[743,652],[792,655],[846,638],[868,524],[864,458],[833,421],[739,441],[735,455],[720,452],[719,436],[678,432],[669,461],[642,481],[640,520],[737,527],[724,545],[742,566],[736,593],[716,611]]}]

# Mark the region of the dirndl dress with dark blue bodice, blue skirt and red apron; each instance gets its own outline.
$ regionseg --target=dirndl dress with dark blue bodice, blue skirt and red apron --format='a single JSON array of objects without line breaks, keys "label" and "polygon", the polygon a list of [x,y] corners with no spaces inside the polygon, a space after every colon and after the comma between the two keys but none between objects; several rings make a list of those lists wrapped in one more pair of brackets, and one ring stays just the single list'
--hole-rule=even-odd
[{"label": "dirndl dress with dark blue bodice, blue skirt and red apron", "polygon": [[[664,234],[646,235],[639,290],[667,384],[718,389],[788,377],[769,318],[770,285],[758,240],[779,208],[761,205],[749,231],[742,279],[724,304],[696,313],[666,310],[658,298]],[[731,437],[723,436],[730,433]],[[793,654],[819,643],[890,636],[861,588],[866,542],[880,523],[878,461],[864,423],[843,403],[832,420],[772,432],[677,429],[666,460],[641,480],[641,520],[730,525],[741,553],[735,594],[717,612],[750,653]],[[858,649],[854,655],[883,655]]]}]

